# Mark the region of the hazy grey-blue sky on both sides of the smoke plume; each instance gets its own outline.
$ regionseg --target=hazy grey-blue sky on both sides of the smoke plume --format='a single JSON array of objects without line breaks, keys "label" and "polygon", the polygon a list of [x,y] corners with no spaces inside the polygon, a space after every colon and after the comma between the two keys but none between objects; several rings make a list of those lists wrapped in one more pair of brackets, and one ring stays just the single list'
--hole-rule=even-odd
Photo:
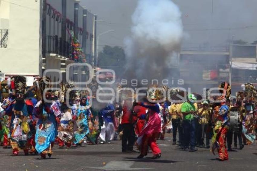
[{"label": "hazy grey-blue sky on both sides of the smoke plume", "polygon": [[[138,0],[81,0],[92,13],[98,15],[98,34],[104,45],[124,46],[130,35],[131,15]],[[257,0],[173,0],[182,13],[184,31],[189,37],[184,47],[198,47],[205,42],[223,45],[227,40],[242,39],[249,43],[257,40]],[[213,7],[213,8],[212,8]],[[213,10],[212,10],[213,9]],[[104,22],[103,22],[104,21]]]}]

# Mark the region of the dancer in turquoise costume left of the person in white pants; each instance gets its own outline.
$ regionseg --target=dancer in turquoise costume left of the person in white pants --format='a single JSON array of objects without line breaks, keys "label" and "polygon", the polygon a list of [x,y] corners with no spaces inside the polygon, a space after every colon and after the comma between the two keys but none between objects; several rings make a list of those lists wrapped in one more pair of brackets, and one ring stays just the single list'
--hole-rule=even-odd
[{"label": "dancer in turquoise costume left of the person in white pants", "polygon": [[82,146],[82,142],[86,135],[89,133],[88,127],[88,117],[91,115],[91,111],[89,109],[87,102],[78,102],[80,97],[76,97],[76,104],[74,104],[71,108],[73,120],[76,124],[76,129],[74,131],[74,144]]}]

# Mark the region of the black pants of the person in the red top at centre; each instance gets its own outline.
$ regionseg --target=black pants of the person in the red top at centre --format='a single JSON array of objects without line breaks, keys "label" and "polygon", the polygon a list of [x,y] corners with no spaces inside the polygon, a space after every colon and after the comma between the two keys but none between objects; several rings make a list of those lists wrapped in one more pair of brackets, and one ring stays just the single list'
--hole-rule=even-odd
[{"label": "black pants of the person in the red top at centre", "polygon": [[133,124],[122,124],[122,151],[133,150],[135,143],[135,131]]}]

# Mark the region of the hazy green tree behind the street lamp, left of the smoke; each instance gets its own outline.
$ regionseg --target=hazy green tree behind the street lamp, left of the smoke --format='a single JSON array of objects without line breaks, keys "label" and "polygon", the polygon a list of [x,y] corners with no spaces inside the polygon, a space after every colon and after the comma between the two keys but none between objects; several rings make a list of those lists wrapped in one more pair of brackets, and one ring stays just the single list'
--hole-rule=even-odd
[{"label": "hazy green tree behind the street lamp, left of the smoke", "polygon": [[99,67],[112,67],[112,66],[124,66],[125,64],[125,52],[122,47],[105,46],[98,54],[98,66]]}]

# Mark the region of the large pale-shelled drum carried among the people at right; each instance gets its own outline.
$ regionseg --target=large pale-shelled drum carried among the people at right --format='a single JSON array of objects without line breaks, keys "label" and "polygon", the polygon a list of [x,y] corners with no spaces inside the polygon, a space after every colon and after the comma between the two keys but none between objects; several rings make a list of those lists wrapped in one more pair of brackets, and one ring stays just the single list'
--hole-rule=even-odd
[{"label": "large pale-shelled drum carried among the people at right", "polygon": [[229,129],[233,132],[239,132],[240,112],[239,108],[231,108],[229,112],[230,126]]}]

